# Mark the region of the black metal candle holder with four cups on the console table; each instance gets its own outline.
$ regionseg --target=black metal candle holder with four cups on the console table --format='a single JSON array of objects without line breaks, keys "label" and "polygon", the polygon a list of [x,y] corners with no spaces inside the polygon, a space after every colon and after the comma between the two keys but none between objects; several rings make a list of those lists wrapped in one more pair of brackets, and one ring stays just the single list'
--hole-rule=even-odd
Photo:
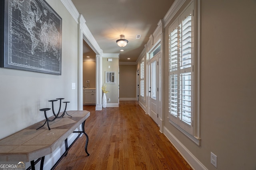
[{"label": "black metal candle holder with four cups on the console table", "polygon": [[[54,118],[53,118],[53,119],[49,119],[49,118],[47,117],[47,114],[46,114],[46,111],[50,110],[50,108],[39,109],[40,111],[44,111],[44,116],[45,116],[46,121],[44,122],[44,124],[43,124],[42,126],[40,126],[40,127],[37,128],[37,129],[40,129],[41,127],[43,127],[43,126],[45,125],[45,123],[47,122],[48,129],[51,130],[50,127],[49,127],[49,121],[54,121],[56,118],[63,117],[63,116],[65,115],[65,113],[66,113],[68,116],[72,117],[71,115],[69,115],[69,114],[66,112],[67,104],[70,103],[70,102],[62,102],[62,103],[65,103],[66,106],[65,106],[65,109],[64,109],[62,115],[59,116],[59,114],[60,114],[60,109],[61,109],[61,100],[63,100],[63,99],[64,99],[64,98],[58,98],[58,99],[56,99],[56,100],[48,100],[48,102],[52,102],[52,113],[53,113],[53,115],[54,115]],[[56,101],[58,101],[58,100],[60,100],[60,107],[59,107],[58,113],[56,114],[55,111],[54,111],[54,102],[56,102]],[[37,130],[37,129],[36,129],[36,130]]]}]

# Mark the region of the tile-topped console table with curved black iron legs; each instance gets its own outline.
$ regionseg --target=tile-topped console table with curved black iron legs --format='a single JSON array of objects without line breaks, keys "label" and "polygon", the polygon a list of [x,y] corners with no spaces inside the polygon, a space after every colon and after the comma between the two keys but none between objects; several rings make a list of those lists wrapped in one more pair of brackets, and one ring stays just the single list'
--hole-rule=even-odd
[{"label": "tile-topped console table with curved black iron legs", "polygon": [[[30,162],[31,169],[35,169],[35,162],[40,163],[40,170],[44,166],[44,156],[51,154],[59,147],[63,141],[65,141],[66,151],[61,156],[63,158],[68,153],[68,150],[76,139],[84,133],[86,135],[85,152],[87,152],[88,135],[84,131],[84,123],[90,116],[89,111],[67,111],[68,115],[64,115],[62,118],[58,118],[52,122],[49,122],[51,130],[48,130],[47,125],[44,125],[40,129],[45,121],[40,121],[30,127],[27,127],[9,137],[0,140],[0,161],[19,161]],[[82,124],[82,131],[75,131]],[[74,142],[68,147],[67,138],[72,133],[80,133]],[[58,160],[58,162],[61,160]],[[36,160],[36,161],[35,161]],[[53,168],[58,164],[53,166]]]}]

